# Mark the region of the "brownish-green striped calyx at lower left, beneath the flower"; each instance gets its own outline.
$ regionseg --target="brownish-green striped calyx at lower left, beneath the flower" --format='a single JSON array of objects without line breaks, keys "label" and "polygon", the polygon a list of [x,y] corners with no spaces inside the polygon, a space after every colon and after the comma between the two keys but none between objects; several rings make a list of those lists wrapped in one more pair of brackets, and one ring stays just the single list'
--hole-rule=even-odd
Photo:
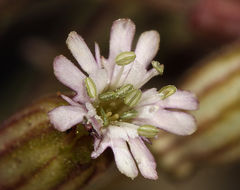
[{"label": "brownish-green striped calyx at lower left, beneath the flower", "polygon": [[65,102],[49,96],[14,115],[0,128],[0,189],[79,190],[111,163],[92,160],[93,139],[83,126],[55,130],[47,112]]}]

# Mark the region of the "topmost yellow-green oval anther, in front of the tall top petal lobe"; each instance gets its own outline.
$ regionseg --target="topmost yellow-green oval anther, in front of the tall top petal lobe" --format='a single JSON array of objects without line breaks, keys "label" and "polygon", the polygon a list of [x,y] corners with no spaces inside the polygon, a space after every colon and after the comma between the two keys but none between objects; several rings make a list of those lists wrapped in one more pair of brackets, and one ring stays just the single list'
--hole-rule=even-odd
[{"label": "topmost yellow-green oval anther, in front of the tall top petal lobe", "polygon": [[132,51],[125,51],[115,58],[116,64],[120,66],[128,65],[129,63],[133,62],[136,58],[136,54]]}]

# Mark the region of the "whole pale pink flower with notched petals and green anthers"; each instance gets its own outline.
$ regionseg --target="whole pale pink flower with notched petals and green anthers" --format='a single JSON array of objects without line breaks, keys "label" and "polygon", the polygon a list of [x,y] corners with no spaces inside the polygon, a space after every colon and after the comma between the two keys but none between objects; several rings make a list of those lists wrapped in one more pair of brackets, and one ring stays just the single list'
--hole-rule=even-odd
[{"label": "whole pale pink flower with notched petals and green anthers", "polygon": [[[94,58],[84,40],[71,32],[67,45],[80,69],[60,55],[54,60],[54,74],[76,95],[72,99],[62,95],[70,105],[55,108],[49,117],[59,131],[79,123],[92,126],[92,158],[111,147],[121,173],[133,179],[139,169],[145,178],[157,179],[156,163],[144,141],[156,137],[159,129],[192,134],[196,130],[193,116],[176,109],[195,110],[198,102],[192,93],[173,85],[159,91],[140,90],[152,77],[162,74],[163,65],[151,62],[159,48],[158,32],[142,33],[133,52],[134,33],[131,20],[116,20],[111,29],[109,57],[105,59],[97,43]],[[150,63],[153,68],[148,70]]]}]

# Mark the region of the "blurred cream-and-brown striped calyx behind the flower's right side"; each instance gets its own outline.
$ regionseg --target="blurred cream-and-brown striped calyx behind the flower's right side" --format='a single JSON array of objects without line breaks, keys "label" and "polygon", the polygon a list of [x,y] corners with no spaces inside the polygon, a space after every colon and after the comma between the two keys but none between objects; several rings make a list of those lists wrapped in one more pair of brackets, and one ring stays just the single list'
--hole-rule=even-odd
[{"label": "blurred cream-and-brown striped calyx behind the flower's right side", "polygon": [[189,137],[162,133],[154,141],[161,168],[185,177],[201,165],[240,162],[240,44],[200,62],[181,88],[199,98],[198,130]]}]

